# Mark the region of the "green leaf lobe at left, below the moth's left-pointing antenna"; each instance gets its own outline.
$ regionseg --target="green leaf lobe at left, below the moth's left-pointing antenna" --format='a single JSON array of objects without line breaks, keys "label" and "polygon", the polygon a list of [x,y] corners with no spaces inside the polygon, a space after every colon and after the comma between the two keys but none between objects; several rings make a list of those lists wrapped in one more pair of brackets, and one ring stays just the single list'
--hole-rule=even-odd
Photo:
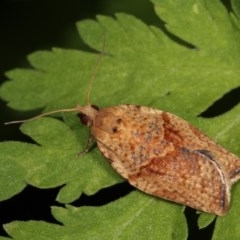
[{"label": "green leaf lobe at left, below the moth's left-pointing antenna", "polygon": [[80,124],[72,127],[74,131],[59,120],[41,118],[21,126],[21,131],[38,145],[20,142],[0,145],[1,172],[6,172],[0,177],[2,189],[6,189],[1,193],[2,200],[18,193],[26,183],[40,188],[66,184],[58,196],[60,202],[66,203],[77,199],[81,192],[93,194],[120,181],[98,152],[92,158],[77,157],[81,143],[75,134],[82,138],[83,145],[87,136]]}]

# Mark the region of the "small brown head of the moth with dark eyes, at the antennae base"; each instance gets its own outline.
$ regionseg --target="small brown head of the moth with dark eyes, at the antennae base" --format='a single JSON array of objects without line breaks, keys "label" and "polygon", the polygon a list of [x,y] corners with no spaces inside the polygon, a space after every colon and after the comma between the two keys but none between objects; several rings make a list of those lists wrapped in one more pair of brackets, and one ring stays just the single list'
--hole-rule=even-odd
[{"label": "small brown head of the moth with dark eyes, at the antennae base", "polygon": [[96,114],[99,108],[96,105],[86,105],[85,107],[78,107],[79,118],[81,123],[87,125],[88,127],[92,126],[93,120],[96,117]]}]

